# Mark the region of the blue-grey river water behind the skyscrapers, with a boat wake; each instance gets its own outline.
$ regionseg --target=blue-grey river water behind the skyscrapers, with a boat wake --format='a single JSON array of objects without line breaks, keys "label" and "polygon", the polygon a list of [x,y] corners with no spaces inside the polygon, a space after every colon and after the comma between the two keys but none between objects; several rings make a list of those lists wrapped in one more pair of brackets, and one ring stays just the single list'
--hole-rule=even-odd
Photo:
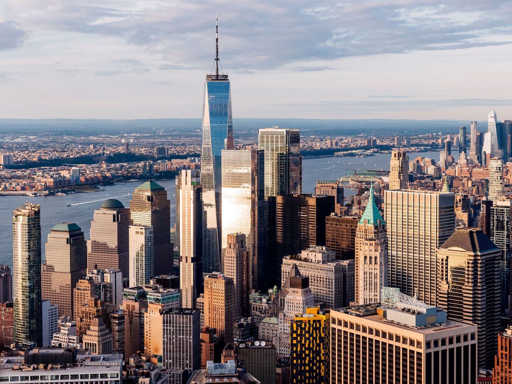
[{"label": "blue-grey river water behind the skyscrapers, with a boat wake", "polygon": [[[458,155],[455,153],[454,156]],[[410,159],[424,156],[439,160],[439,152],[410,153]],[[314,192],[316,180],[333,180],[345,176],[350,170],[389,169],[391,155],[377,154],[370,157],[323,157],[303,161],[303,192]],[[129,206],[131,194],[140,183],[117,184],[102,187],[104,191],[94,193],[74,193],[67,196],[0,196],[0,264],[12,265],[12,211],[29,200],[41,205],[41,243],[42,259],[45,259],[45,243],[48,234],[55,224],[60,222],[75,222],[89,238],[91,220],[95,209],[103,201],[116,198],[125,207]],[[158,184],[167,190],[170,200],[170,226],[175,222],[175,182],[174,180],[159,180]],[[345,196],[353,195],[354,191],[346,188]],[[67,205],[71,204],[71,207]],[[55,217],[53,217],[55,214]]]}]

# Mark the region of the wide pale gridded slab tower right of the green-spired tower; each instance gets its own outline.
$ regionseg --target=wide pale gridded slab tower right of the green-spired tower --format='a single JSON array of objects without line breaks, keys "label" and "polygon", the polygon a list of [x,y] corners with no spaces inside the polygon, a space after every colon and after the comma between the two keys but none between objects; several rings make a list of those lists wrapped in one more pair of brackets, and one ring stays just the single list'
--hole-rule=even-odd
[{"label": "wide pale gridded slab tower right of the green-spired tower", "polygon": [[436,303],[436,249],[455,230],[452,192],[385,191],[388,284],[428,305]]}]

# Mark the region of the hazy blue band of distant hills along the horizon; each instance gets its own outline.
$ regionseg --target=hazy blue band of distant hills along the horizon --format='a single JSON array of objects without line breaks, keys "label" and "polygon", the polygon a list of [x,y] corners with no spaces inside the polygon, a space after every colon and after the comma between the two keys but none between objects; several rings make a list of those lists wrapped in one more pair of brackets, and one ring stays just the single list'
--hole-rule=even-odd
[{"label": "hazy blue band of distant hills along the horizon", "polygon": [[[485,122],[478,122],[480,130]],[[470,131],[470,121],[464,120],[394,120],[394,119],[233,119],[233,131],[257,131],[259,128],[280,126],[282,128],[300,128],[305,131],[322,131],[322,134],[419,134],[456,133],[459,126]],[[201,119],[0,119],[1,132],[37,132],[56,130],[61,133],[80,134],[140,132],[148,129],[192,130],[201,128]]]}]

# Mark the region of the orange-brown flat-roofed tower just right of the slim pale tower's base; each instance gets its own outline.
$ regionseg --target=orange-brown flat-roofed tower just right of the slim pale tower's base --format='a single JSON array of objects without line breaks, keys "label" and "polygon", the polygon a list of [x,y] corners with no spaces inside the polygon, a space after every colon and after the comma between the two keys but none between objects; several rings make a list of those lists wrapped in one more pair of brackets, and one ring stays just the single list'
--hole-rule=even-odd
[{"label": "orange-brown flat-roofed tower just right of the slim pale tower's base", "polygon": [[221,274],[204,278],[204,326],[217,329],[224,345],[233,342],[234,281]]}]

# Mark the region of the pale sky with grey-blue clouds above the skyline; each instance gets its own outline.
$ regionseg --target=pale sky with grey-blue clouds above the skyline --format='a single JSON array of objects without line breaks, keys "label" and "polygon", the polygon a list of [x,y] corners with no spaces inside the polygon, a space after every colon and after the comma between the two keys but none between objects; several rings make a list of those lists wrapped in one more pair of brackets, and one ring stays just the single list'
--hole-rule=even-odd
[{"label": "pale sky with grey-blue clouds above the skyline", "polygon": [[215,56],[233,117],[512,119],[495,1],[0,3],[0,118],[200,117]]}]

